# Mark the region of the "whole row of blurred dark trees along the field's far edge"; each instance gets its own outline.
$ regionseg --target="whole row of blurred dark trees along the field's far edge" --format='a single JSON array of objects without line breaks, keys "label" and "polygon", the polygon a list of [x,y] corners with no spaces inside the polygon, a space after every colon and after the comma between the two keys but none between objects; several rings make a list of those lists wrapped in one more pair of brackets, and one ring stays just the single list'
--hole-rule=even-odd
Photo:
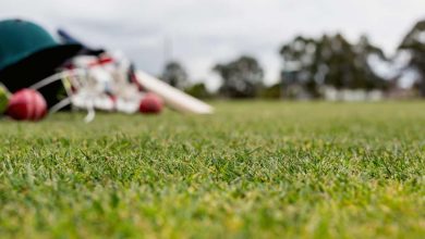
[{"label": "whole row of blurred dark trees along the field's far edge", "polygon": [[[412,27],[392,58],[371,43],[367,36],[350,42],[341,34],[318,38],[298,36],[284,43],[279,54],[282,70],[279,83],[272,86],[265,86],[264,70],[250,55],[214,66],[212,71],[222,79],[215,93],[209,92],[204,83],[190,85],[187,72],[177,61],[166,65],[160,78],[198,98],[296,98],[301,93],[315,99],[323,97],[324,87],[336,90],[396,90],[403,74],[412,73],[415,78],[411,91],[425,98],[425,20]],[[409,61],[399,67],[394,62],[401,54],[408,54]],[[376,64],[394,65],[392,71],[396,74],[382,76],[375,70]]]}]

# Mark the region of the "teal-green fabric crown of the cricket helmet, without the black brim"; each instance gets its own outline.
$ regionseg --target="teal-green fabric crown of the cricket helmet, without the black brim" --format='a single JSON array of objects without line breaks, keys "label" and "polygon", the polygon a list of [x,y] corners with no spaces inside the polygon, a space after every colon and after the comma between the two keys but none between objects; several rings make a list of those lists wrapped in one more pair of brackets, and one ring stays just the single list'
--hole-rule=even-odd
[{"label": "teal-green fabric crown of the cricket helmet, without the black brim", "polygon": [[40,26],[20,20],[0,22],[0,71],[58,43]]}]

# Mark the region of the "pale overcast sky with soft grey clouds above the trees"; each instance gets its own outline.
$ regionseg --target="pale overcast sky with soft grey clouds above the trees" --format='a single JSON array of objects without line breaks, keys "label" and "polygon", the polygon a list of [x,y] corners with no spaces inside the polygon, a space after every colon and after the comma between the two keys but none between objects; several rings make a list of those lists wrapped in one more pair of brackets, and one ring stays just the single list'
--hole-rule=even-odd
[{"label": "pale overcast sky with soft grey clouds above the trees", "polygon": [[192,81],[215,89],[214,65],[242,54],[258,59],[267,84],[277,81],[279,48],[300,34],[366,34],[391,55],[425,18],[425,0],[1,0],[0,20],[10,17],[121,50],[150,74],[178,60]]}]

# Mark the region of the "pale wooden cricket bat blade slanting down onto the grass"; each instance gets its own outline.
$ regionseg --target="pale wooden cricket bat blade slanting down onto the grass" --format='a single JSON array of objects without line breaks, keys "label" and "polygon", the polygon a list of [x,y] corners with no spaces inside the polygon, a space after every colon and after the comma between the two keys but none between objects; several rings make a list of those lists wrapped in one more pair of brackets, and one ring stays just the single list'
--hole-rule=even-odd
[{"label": "pale wooden cricket bat blade slanting down onto the grass", "polygon": [[158,95],[163,99],[166,104],[178,111],[194,114],[211,114],[214,112],[214,108],[209,104],[184,93],[147,73],[137,71],[135,75],[136,80],[144,89]]}]

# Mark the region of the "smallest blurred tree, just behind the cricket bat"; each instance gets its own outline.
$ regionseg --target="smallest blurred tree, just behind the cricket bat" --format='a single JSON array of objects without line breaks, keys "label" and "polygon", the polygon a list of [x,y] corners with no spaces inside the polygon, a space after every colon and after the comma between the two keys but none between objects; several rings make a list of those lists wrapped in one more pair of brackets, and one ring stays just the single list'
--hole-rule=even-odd
[{"label": "smallest blurred tree, just behind the cricket bat", "polygon": [[160,78],[167,84],[179,89],[184,89],[189,81],[185,68],[175,61],[169,62],[166,65]]}]

